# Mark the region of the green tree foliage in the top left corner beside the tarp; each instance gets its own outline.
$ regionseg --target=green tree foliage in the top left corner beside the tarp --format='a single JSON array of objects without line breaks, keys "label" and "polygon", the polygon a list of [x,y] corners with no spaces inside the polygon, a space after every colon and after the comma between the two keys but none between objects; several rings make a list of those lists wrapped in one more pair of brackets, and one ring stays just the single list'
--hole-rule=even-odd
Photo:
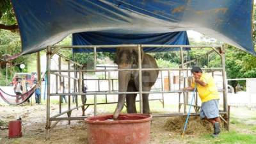
[{"label": "green tree foliage in the top left corner beside the tarp", "polygon": [[10,0],[0,1],[0,29],[13,32],[19,29]]}]

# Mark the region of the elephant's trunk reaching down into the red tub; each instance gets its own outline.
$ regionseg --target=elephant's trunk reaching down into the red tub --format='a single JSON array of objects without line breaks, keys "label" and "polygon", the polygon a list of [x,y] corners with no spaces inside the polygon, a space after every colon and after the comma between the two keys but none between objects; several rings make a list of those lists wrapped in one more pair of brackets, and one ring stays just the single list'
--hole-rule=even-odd
[{"label": "elephant's trunk reaching down into the red tub", "polygon": [[[127,86],[131,78],[131,71],[119,71],[118,72],[118,92],[127,92]],[[113,119],[117,120],[120,112],[124,108],[126,94],[118,95],[118,103],[113,114]]]}]

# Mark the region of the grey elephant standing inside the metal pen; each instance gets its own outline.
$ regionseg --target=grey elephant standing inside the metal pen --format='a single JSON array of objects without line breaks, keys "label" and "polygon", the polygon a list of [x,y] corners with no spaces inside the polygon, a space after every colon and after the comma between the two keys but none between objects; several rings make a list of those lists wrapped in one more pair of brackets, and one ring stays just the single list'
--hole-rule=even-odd
[{"label": "grey elephant standing inside the metal pen", "polygon": [[[139,68],[138,65],[138,47],[118,47],[116,48],[116,60],[118,69]],[[158,68],[156,60],[143,52],[141,49],[141,68]],[[159,70],[142,70],[142,91],[150,92],[152,86],[156,83]],[[118,92],[139,92],[139,71],[119,71],[118,72]],[[116,120],[120,111],[124,108],[125,98],[127,104],[127,113],[137,113],[136,111],[136,93],[119,94],[118,103],[113,114]],[[148,104],[149,93],[143,93],[143,113],[150,113]]]}]

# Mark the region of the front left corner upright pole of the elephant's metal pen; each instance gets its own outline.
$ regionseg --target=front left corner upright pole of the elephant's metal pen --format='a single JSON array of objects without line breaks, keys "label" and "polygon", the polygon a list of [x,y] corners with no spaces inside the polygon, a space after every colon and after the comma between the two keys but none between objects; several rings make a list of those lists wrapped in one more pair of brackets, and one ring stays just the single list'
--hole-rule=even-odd
[{"label": "front left corner upright pole of the elephant's metal pen", "polygon": [[46,52],[46,56],[47,56],[47,101],[46,101],[46,139],[49,138],[49,129],[50,129],[50,84],[51,84],[51,78],[50,78],[50,74],[51,74],[51,47],[47,47],[47,52]]}]

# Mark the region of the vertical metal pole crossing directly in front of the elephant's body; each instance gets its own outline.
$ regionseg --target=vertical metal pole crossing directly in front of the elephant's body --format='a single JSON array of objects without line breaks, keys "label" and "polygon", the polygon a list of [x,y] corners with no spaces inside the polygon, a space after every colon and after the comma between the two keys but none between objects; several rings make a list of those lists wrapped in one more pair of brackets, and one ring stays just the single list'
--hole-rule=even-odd
[{"label": "vertical metal pole crossing directly in front of the elephant's body", "polygon": [[139,90],[140,90],[140,113],[143,113],[143,97],[142,97],[142,70],[141,70],[141,45],[138,45],[138,61],[139,61]]}]

